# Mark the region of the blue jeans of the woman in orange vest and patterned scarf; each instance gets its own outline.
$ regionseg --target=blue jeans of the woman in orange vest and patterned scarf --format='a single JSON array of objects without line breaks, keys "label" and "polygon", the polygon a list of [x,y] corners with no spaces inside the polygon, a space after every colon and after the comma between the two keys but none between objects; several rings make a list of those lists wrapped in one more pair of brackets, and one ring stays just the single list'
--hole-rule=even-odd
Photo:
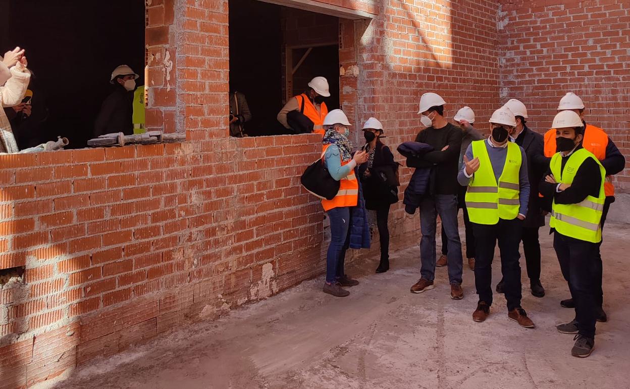
[{"label": "blue jeans of the woman in orange vest and patterned scarf", "polygon": [[328,211],[330,245],[326,255],[326,282],[343,277],[346,250],[350,246],[350,207],[336,207]]}]

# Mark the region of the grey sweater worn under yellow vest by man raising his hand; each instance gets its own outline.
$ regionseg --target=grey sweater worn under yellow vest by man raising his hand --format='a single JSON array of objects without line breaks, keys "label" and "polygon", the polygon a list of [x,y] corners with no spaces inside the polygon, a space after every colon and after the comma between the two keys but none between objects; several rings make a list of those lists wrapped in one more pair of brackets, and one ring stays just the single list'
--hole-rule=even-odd
[{"label": "grey sweater worn under yellow vest by man raising his hand", "polygon": [[[505,166],[505,157],[508,154],[508,148],[496,147],[490,144],[490,139],[484,141],[486,149],[488,150],[488,156],[490,156],[490,163],[492,164],[492,170],[495,173],[496,181],[498,182],[501,173],[503,173],[503,166]],[[518,213],[525,216],[527,215],[527,203],[529,202],[529,179],[527,178],[527,156],[522,147],[520,149],[520,155],[522,162],[520,164],[520,170],[518,171],[518,183],[520,184],[520,192],[518,192],[518,200],[520,200],[520,207]],[[466,149],[466,158],[473,160],[473,145],[469,145]],[[474,177],[474,174],[473,174]],[[460,185],[467,187],[471,182],[471,178],[466,176],[466,165],[462,166],[459,174],[457,175],[457,181]]]}]

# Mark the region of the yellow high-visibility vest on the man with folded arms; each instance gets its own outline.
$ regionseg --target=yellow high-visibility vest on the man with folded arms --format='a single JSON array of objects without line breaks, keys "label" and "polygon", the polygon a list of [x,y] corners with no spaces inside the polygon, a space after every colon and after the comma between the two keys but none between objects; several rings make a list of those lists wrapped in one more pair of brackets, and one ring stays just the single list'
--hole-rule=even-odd
[{"label": "yellow high-visibility vest on the man with folded arms", "polygon": [[587,149],[579,149],[569,157],[562,170],[562,156],[560,153],[554,154],[551,158],[551,173],[558,183],[571,184],[575,173],[587,160],[593,158],[599,165],[602,173],[602,183],[600,184],[599,196],[587,196],[585,200],[579,204],[556,204],[554,201],[551,205],[551,220],[549,226],[555,228],[562,235],[571,238],[599,243],[602,240],[602,211],[604,211],[604,201],[606,199],[604,193],[604,177],[606,171],[604,166],[595,158],[595,156],[587,151]]}]

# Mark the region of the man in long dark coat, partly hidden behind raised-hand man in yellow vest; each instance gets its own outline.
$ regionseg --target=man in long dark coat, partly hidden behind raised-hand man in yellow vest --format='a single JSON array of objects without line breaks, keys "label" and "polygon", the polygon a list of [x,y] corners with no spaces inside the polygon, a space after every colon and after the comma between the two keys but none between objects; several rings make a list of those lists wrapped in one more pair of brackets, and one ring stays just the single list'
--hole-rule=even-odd
[{"label": "man in long dark coat, partly hidden behind raised-hand man in yellow vest", "polygon": [[[527,264],[527,277],[532,296],[541,298],[545,289],[541,284],[541,243],[538,231],[545,225],[545,214],[538,197],[538,183],[542,173],[549,167],[549,161],[543,153],[542,135],[527,127],[527,108],[515,98],[508,100],[503,107],[508,108],[516,117],[516,127],[510,132],[510,142],[515,142],[527,155],[527,175],[529,178],[529,203],[523,225],[523,251]],[[496,292],[503,293],[503,279],[496,285]]]}]

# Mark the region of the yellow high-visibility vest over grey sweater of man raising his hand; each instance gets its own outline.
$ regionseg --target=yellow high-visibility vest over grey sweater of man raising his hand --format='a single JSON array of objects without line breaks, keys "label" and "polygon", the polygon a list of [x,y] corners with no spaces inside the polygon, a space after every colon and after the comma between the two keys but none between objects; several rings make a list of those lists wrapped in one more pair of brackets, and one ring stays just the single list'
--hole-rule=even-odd
[{"label": "yellow high-visibility vest over grey sweater of man raising his hand", "polygon": [[472,143],[473,158],[479,158],[479,170],[474,173],[466,190],[466,208],[473,223],[496,224],[499,219],[512,220],[518,216],[518,173],[523,156],[517,144],[508,142],[505,165],[497,183],[486,142]]}]

